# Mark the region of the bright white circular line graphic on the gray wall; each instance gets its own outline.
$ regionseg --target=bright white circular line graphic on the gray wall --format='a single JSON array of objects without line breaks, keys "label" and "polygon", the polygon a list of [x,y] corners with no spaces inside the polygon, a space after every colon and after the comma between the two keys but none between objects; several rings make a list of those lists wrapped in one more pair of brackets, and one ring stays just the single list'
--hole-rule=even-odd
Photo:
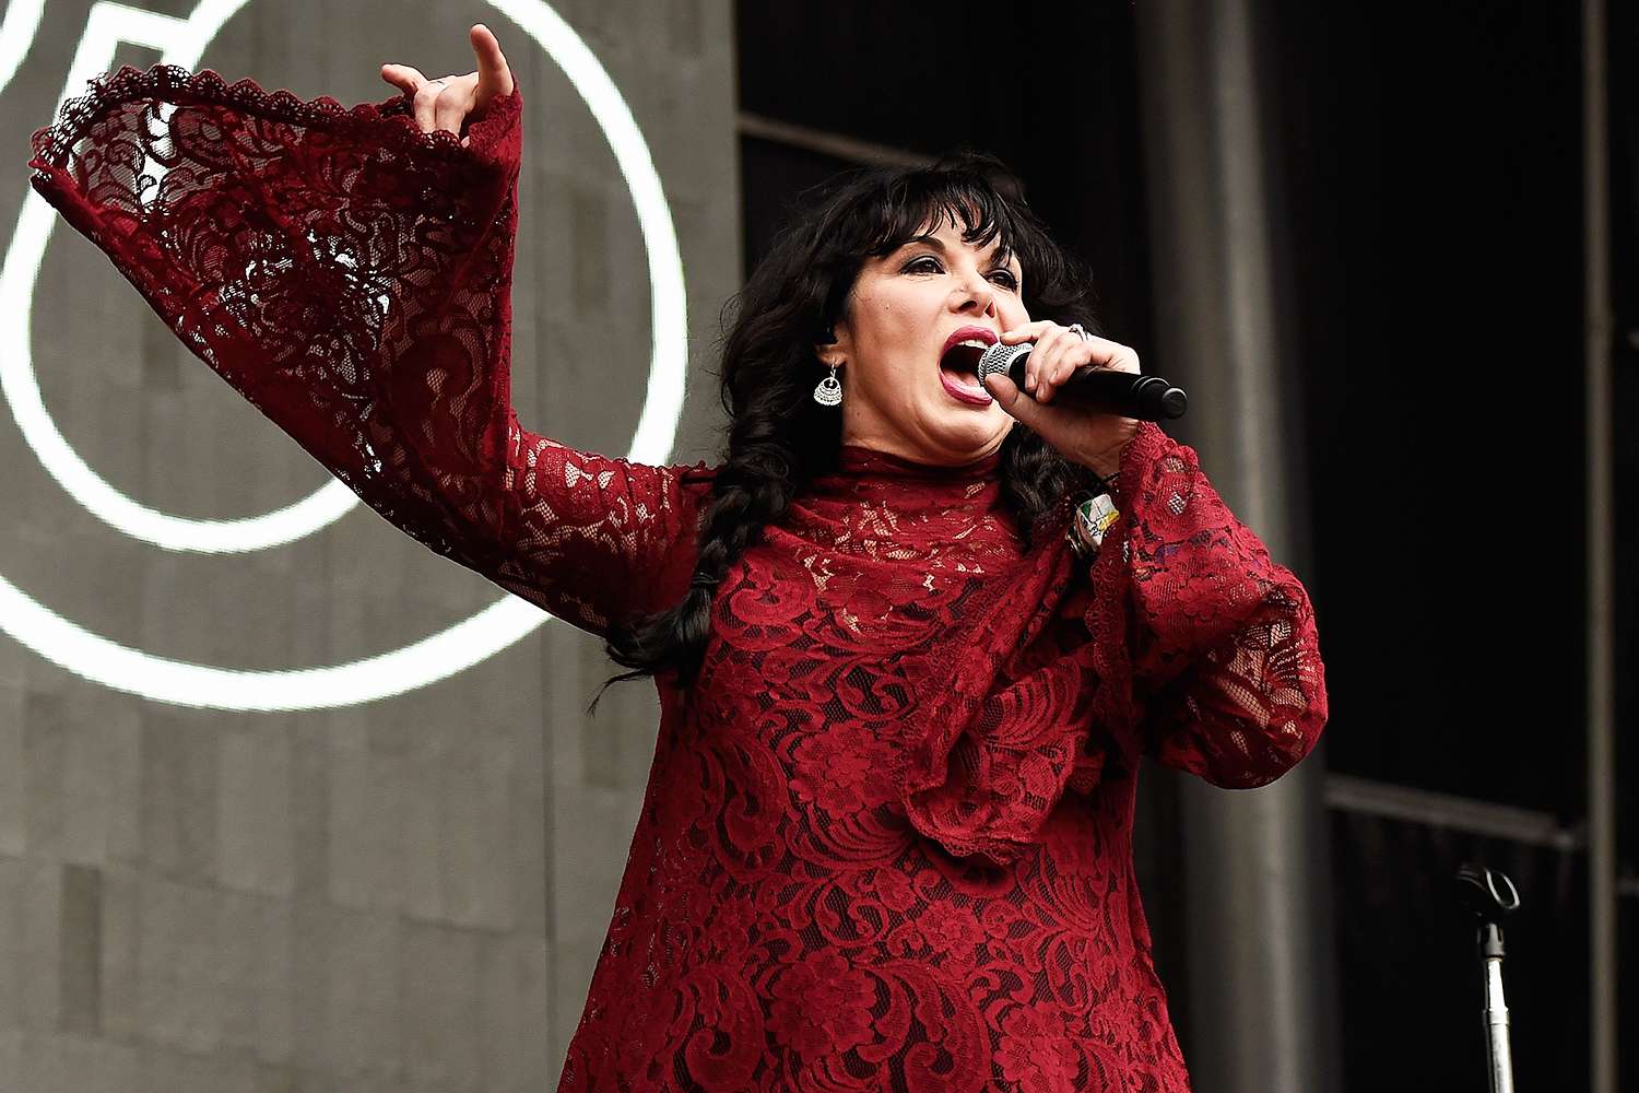
[{"label": "bright white circular line graphic on the gray wall", "polygon": [[[202,0],[187,20],[98,3],[75,52],[62,98],[103,70],[120,41],[164,49],[162,61],[192,69],[223,23],[249,0]],[[664,462],[683,398],[687,313],[677,233],[642,133],[597,57],[544,0],[490,0],[569,77],[598,121],[631,190],[647,251],[654,346],[642,415],[628,459]],[[38,193],[25,195],[0,269],[0,390],[25,441],[46,470],[89,511],[126,534],[170,551],[246,552],[292,542],[334,521],[357,498],[329,482],[297,505],[231,521],[184,519],[146,508],[97,475],[46,413],[30,354],[30,318],[39,264],[56,223]],[[447,678],[513,644],[552,618],[506,596],[470,618],[387,654],[318,669],[247,672],[169,660],[129,649],[57,616],[0,575],[0,629],[54,664],[107,687],[185,706],[316,710],[372,701]]]}]

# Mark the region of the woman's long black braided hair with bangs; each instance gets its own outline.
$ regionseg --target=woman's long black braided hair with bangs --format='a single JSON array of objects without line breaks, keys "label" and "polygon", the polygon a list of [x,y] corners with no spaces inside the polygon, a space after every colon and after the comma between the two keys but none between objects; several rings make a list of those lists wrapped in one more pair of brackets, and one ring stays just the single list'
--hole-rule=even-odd
[{"label": "woman's long black braided hair with bangs", "polygon": [[[929,167],[860,167],[805,192],[723,310],[718,380],[728,454],[713,478],[688,592],[662,611],[610,626],[605,651],[633,670],[605,680],[588,711],[621,680],[674,672],[680,687],[695,682],[711,598],[729,565],[813,478],[839,464],[842,415],[813,400],[815,346],[829,341],[867,259],[892,254],[946,220],[960,223],[965,243],[988,246],[1000,238],[1018,257],[1031,315],[1100,331],[1087,269],[1049,238],[1018,177],[993,156],[960,151]],[[1018,421],[998,456],[1001,498],[1024,529],[1026,547],[1036,519],[1092,483],[1090,470]]]}]

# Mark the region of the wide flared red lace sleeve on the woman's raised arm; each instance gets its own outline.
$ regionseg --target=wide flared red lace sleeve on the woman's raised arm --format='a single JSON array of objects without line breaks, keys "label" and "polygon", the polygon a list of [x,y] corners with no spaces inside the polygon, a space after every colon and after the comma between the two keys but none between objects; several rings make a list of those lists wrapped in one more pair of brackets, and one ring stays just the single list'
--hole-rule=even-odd
[{"label": "wide flared red lace sleeve on the woman's raised arm", "polygon": [[406,97],[347,110],[125,67],[34,134],[30,166],[177,338],[377,513],[602,634],[667,598],[710,472],[518,424],[521,102],[469,118],[464,147],[421,133]]}]

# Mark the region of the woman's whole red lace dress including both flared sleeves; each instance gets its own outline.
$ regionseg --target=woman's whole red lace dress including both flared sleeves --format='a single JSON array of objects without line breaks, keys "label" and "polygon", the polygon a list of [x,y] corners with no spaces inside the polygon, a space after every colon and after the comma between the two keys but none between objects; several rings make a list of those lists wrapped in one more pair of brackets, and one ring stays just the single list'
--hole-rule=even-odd
[{"label": "woman's whole red lace dress including both flared sleeves", "polygon": [[[123,69],[36,134],[34,185],[382,516],[603,633],[682,596],[713,470],[511,413],[520,103],[464,149],[403,100]],[[1134,882],[1139,757],[1264,785],[1313,747],[1324,683],[1303,587],[1188,447],[1144,426],[1119,508],[1090,565],[1067,505],[1023,552],[995,457],[842,449],[718,587],[698,683],[657,680],[562,1088],[1188,1088]]]}]

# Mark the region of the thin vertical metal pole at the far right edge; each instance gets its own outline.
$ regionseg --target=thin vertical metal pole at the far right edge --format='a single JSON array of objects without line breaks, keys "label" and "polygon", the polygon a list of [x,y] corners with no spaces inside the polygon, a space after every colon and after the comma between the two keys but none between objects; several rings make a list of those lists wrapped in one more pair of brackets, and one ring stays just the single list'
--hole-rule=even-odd
[{"label": "thin vertical metal pole at the far right edge", "polygon": [[1590,1088],[1616,1093],[1616,588],[1611,447],[1609,121],[1605,0],[1582,5],[1583,298],[1588,508]]}]

